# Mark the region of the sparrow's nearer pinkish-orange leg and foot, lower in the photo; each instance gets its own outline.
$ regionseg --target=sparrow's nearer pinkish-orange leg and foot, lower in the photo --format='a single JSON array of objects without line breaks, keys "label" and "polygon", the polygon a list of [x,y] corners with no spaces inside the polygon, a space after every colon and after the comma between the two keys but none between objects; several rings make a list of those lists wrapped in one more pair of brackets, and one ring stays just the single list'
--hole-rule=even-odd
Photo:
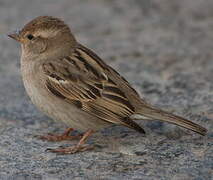
[{"label": "sparrow's nearer pinkish-orange leg and foot, lower in the photo", "polygon": [[47,149],[47,151],[50,151],[53,153],[59,153],[59,154],[74,154],[77,152],[91,150],[93,149],[93,146],[85,145],[85,142],[88,139],[88,137],[91,136],[91,134],[93,133],[94,133],[93,130],[88,130],[87,132],[85,132],[81,140],[75,146],[66,147],[66,148],[57,148],[57,149]]}]

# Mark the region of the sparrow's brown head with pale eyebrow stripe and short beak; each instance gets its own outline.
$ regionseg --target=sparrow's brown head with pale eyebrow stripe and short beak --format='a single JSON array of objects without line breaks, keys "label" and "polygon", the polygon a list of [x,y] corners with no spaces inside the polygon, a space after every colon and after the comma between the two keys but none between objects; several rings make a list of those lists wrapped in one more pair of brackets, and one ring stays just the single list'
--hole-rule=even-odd
[{"label": "sparrow's brown head with pale eyebrow stripe and short beak", "polygon": [[8,36],[21,43],[22,53],[31,56],[66,53],[76,44],[68,25],[51,16],[39,16]]}]

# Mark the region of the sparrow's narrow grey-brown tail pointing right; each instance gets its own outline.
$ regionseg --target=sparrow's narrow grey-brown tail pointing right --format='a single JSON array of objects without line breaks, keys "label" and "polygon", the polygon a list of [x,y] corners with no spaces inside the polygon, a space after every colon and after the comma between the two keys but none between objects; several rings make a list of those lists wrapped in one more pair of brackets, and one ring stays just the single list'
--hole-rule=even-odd
[{"label": "sparrow's narrow grey-brown tail pointing right", "polygon": [[203,136],[206,135],[207,133],[207,129],[196,123],[193,123],[192,121],[171,114],[169,112],[153,108],[149,105],[143,105],[143,108],[139,110],[137,113],[133,114],[130,118],[136,120],[136,119],[144,119],[144,117],[148,118],[148,120],[157,119],[161,121],[166,121],[184,127],[196,133],[199,133]]}]

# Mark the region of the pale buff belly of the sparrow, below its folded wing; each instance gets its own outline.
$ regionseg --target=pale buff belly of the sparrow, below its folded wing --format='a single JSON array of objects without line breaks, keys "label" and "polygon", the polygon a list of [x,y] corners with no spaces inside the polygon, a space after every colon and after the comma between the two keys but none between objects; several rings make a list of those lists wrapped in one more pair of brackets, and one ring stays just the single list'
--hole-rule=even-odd
[{"label": "pale buff belly of the sparrow, below its folded wing", "polygon": [[80,131],[88,129],[96,131],[110,125],[110,123],[52,95],[45,87],[39,87],[39,84],[24,80],[24,86],[34,105],[50,118],[63,121],[71,128]]}]

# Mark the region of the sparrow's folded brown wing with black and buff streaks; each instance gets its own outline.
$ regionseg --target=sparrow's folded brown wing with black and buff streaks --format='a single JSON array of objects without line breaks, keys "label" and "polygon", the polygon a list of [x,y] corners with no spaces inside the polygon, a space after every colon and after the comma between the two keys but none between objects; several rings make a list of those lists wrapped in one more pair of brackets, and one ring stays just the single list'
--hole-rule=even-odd
[{"label": "sparrow's folded brown wing with black and buff streaks", "polygon": [[119,88],[118,80],[111,75],[120,78],[119,83],[124,81],[131,88],[130,85],[92,51],[79,46],[71,56],[47,61],[42,69],[46,76],[46,88],[58,98],[101,120],[123,124],[144,133],[138,124],[128,118],[135,108]]}]

